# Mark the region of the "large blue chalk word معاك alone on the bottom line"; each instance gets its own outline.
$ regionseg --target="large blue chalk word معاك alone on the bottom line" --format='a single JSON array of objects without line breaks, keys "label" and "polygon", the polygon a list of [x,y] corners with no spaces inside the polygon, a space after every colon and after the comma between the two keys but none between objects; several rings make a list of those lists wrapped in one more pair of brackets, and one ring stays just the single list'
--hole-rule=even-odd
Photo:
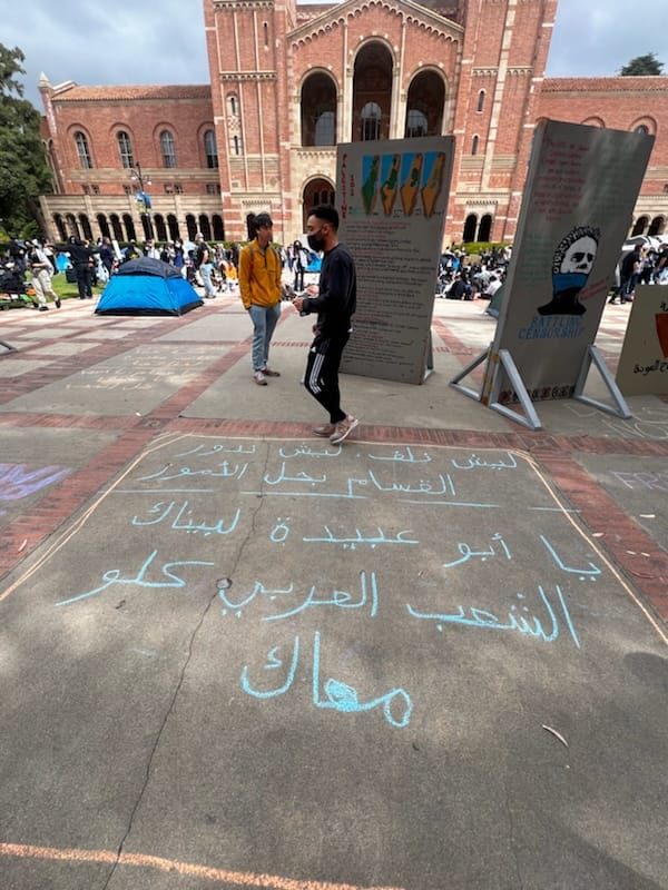
[{"label": "large blue chalk word \u0645\u0639\u0627\u0643 alone on the bottom line", "polygon": [[[284,666],[283,660],[278,656],[279,651],[281,646],[274,646],[269,650],[267,662],[264,666],[265,671],[278,671]],[[252,685],[248,679],[249,666],[245,664],[240,674],[242,689],[256,699],[274,699],[277,695],[284,695],[294,683],[298,661],[299,637],[297,635],[293,641],[292,656],[285,671],[285,680],[279,685],[271,689],[257,689]],[[360,701],[357,690],[341,680],[327,678],[323,683],[321,681],[321,635],[318,631],[313,635],[312,696],[313,704],[316,708],[332,709],[345,714],[373,711],[382,705],[383,716],[387,723],[399,729],[407,726],[413,710],[411,696],[401,688],[392,689],[384,695],[363,702]]]}]

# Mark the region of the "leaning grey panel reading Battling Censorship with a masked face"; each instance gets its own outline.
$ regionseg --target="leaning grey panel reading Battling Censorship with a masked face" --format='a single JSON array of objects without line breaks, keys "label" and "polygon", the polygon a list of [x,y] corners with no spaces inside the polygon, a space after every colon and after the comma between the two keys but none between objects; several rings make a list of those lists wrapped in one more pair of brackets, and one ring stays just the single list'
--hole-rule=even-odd
[{"label": "leaning grey panel reading Battling Censorship with a masked face", "polygon": [[[482,400],[573,396],[593,345],[654,137],[540,123]],[[505,350],[500,354],[500,350]]]}]

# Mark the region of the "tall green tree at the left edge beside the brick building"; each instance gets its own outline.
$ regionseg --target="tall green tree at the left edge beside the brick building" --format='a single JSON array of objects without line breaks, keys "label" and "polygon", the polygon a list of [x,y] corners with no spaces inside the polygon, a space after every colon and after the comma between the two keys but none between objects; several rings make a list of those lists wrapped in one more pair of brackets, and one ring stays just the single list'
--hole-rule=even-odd
[{"label": "tall green tree at the left edge beside the brick building", "polygon": [[30,222],[45,229],[39,196],[51,190],[39,128],[40,115],[23,99],[17,75],[26,73],[18,47],[0,43],[0,228],[23,234]]}]

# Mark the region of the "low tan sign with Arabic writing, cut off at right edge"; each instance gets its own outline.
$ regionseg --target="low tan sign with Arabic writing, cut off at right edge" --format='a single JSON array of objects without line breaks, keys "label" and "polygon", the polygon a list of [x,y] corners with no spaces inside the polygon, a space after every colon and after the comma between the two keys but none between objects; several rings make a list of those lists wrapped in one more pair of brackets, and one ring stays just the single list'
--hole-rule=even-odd
[{"label": "low tan sign with Arabic writing, cut off at right edge", "polygon": [[668,287],[636,287],[616,379],[625,396],[668,395]]}]

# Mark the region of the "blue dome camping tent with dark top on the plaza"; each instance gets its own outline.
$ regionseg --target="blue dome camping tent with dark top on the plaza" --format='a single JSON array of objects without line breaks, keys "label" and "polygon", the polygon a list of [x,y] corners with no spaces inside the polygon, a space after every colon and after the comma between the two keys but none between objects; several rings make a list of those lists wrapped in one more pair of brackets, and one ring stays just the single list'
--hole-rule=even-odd
[{"label": "blue dome camping tent with dark top on the plaza", "polygon": [[124,263],[111,276],[96,315],[183,315],[202,306],[180,271],[160,259],[140,257]]}]

